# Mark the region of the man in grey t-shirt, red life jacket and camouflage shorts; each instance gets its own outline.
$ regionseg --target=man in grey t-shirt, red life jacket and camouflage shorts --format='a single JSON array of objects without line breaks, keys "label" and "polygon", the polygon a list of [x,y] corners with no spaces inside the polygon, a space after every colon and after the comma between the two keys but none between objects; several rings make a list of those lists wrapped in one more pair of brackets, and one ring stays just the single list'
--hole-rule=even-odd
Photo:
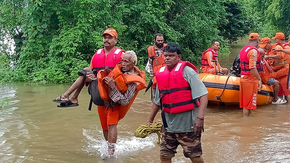
[{"label": "man in grey t-shirt, red life jacket and camouflage shorts", "polygon": [[[171,163],[177,146],[194,163],[203,163],[201,133],[208,91],[193,64],[181,61],[181,47],[168,43],[163,48],[166,66],[156,72],[157,86],[148,125],[162,108],[160,160]],[[161,99],[160,99],[161,98]],[[200,102],[198,101],[200,98]]]}]

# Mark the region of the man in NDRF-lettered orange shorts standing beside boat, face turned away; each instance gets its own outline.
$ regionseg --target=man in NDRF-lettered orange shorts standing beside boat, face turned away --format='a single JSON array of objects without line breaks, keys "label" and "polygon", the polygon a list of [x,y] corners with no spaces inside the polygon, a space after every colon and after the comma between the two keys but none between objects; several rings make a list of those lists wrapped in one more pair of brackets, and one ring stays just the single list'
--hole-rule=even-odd
[{"label": "man in NDRF-lettered orange shorts standing beside boat, face turned away", "polygon": [[258,47],[260,36],[258,33],[249,35],[249,44],[240,51],[241,78],[240,78],[240,108],[243,116],[248,116],[250,110],[257,109],[257,94],[262,89],[260,74],[263,71],[261,56]]}]

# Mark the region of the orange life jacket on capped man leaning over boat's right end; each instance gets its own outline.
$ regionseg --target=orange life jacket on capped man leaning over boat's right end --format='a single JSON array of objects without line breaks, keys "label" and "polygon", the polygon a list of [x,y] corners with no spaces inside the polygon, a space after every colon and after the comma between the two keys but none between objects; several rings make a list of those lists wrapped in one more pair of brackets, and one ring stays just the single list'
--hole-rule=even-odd
[{"label": "orange life jacket on capped man leaning over boat's right end", "polygon": [[[267,54],[268,55],[276,55],[277,52],[273,52],[272,49],[276,48],[277,45],[280,45],[283,49],[284,46],[280,43],[275,43],[271,46],[270,50],[268,50]],[[284,53],[284,57],[282,59],[273,59],[270,60],[268,59],[269,64],[271,65],[272,68],[272,74],[271,77],[277,78],[277,77],[283,77],[288,74],[288,67],[289,67],[289,55]]]}]

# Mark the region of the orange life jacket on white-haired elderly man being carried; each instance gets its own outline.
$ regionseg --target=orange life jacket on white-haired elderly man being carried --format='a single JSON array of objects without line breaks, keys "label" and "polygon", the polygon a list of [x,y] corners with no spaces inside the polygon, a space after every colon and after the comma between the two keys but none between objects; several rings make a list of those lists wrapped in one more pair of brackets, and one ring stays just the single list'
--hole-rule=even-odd
[{"label": "orange life jacket on white-haired elderly man being carried", "polygon": [[[122,94],[124,94],[127,91],[129,83],[136,83],[137,88],[136,88],[136,93],[134,95],[134,99],[135,99],[139,90],[146,88],[146,82],[145,82],[145,71],[139,70],[139,68],[137,68],[136,66],[134,66],[134,69],[138,72],[138,75],[122,73],[122,64],[116,65],[116,67],[113,70],[109,70],[109,69],[100,70],[99,73],[97,74],[97,80],[98,80],[98,87],[99,87],[101,98],[104,99],[104,101],[111,100],[108,93],[110,92],[110,88],[107,86],[104,80],[104,77],[107,76],[107,77],[113,77],[113,79],[117,83],[116,84],[117,89]],[[134,99],[132,98],[131,101],[134,101]],[[130,108],[131,104],[129,103],[128,105],[126,105],[126,107]]]}]

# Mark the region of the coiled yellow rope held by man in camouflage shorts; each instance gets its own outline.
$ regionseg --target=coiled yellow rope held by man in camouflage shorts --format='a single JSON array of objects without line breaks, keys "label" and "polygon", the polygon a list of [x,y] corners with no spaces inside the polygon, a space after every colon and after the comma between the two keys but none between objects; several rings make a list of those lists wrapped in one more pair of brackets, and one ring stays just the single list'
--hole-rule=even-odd
[{"label": "coiled yellow rope held by man in camouflage shorts", "polygon": [[158,135],[157,144],[160,145],[161,127],[162,127],[162,123],[156,122],[156,121],[154,121],[151,126],[141,125],[134,132],[134,136],[135,137],[145,138],[145,137],[147,137],[148,135],[150,135],[152,133],[156,133]]}]

